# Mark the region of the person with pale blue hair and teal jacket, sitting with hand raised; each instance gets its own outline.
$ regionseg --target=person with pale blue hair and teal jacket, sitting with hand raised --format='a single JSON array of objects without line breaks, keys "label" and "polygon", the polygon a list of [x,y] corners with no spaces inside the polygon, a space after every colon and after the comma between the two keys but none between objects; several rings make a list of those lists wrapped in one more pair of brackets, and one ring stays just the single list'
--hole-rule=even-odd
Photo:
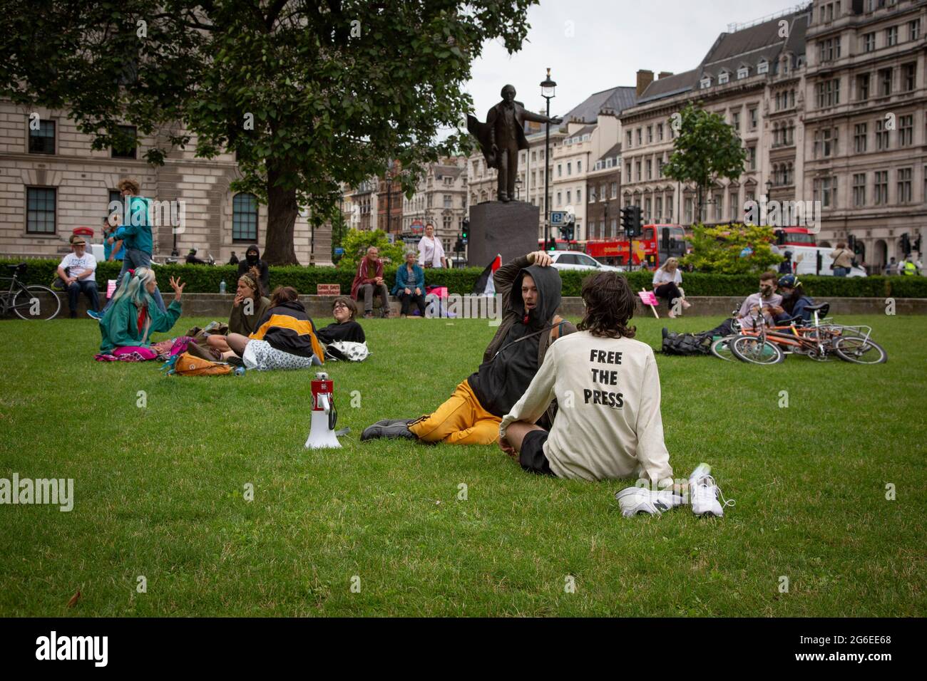
[{"label": "person with pale blue hair and teal jacket, sitting with hand raised", "polygon": [[158,286],[155,272],[146,267],[126,271],[112,304],[100,320],[103,336],[100,352],[115,357],[135,352],[142,359],[156,359],[158,353],[150,347],[151,334],[171,331],[180,317],[185,285],[179,278],[171,277],[174,299],[162,312],[153,297]]}]

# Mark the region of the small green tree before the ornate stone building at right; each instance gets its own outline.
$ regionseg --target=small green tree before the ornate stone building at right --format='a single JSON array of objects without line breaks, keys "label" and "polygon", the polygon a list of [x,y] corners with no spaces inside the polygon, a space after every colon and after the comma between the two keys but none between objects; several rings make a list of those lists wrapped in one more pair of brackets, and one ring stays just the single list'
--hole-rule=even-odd
[{"label": "small green tree before the ornate stone building at right", "polygon": [[695,184],[698,204],[695,222],[700,222],[709,188],[719,177],[740,179],[747,152],[724,117],[705,111],[701,105],[690,104],[674,114],[670,126],[676,132],[676,140],[663,171],[677,182]]}]

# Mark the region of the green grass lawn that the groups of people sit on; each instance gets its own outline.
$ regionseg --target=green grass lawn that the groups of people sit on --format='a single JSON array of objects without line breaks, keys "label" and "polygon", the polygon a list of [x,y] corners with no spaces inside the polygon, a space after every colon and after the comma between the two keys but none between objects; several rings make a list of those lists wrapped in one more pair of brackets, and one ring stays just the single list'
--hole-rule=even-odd
[{"label": "green grass lawn that the groups of people sit on", "polygon": [[0,477],[70,477],[76,498],[0,506],[0,615],[922,616],[927,317],[842,321],[888,363],[657,356],[675,473],[715,467],[737,500],[721,520],[622,518],[628,482],[530,475],[495,447],[360,443],[448,397],[486,322],[364,322],[371,358],[327,366],[351,433],[326,451],[303,449],[311,372],[168,377],[93,361],[89,320],[0,322]]}]

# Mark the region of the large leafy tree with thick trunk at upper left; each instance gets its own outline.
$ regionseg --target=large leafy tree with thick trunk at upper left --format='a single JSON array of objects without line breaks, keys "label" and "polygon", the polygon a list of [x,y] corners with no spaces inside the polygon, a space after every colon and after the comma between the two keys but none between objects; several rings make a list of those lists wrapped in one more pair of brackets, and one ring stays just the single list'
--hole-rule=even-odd
[{"label": "large leafy tree with thick trunk at upper left", "polygon": [[411,192],[467,148],[438,135],[472,109],[471,62],[488,40],[517,50],[536,2],[4,0],[0,96],[68,110],[95,148],[134,144],[121,124],[156,133],[153,164],[192,139],[235,152],[233,189],[268,206],[265,258],[295,263],[299,210],[330,218],[339,182],[396,159]]}]

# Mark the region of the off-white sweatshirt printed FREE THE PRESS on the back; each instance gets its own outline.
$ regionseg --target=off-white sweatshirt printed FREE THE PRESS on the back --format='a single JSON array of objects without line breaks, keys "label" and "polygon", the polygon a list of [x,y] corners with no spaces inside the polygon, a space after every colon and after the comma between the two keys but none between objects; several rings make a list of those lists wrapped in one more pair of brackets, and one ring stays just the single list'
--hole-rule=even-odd
[{"label": "off-white sweatshirt printed FREE THE PRESS on the back", "polygon": [[556,397],[544,455],[557,477],[604,480],[638,476],[666,484],[673,469],[663,441],[660,377],[654,350],[632,338],[588,331],[557,339],[525,395],[505,415],[536,422]]}]

